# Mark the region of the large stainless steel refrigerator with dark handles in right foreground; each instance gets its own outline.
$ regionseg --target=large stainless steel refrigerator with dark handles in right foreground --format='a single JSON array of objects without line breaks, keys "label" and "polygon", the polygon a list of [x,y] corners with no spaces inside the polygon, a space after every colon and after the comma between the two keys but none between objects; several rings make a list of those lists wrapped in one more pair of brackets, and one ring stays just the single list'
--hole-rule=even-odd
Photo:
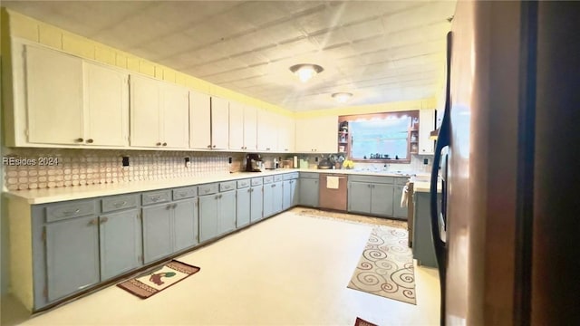
[{"label": "large stainless steel refrigerator with dark handles in right foreground", "polygon": [[580,324],[579,31],[574,2],[457,5],[431,176],[442,324]]}]

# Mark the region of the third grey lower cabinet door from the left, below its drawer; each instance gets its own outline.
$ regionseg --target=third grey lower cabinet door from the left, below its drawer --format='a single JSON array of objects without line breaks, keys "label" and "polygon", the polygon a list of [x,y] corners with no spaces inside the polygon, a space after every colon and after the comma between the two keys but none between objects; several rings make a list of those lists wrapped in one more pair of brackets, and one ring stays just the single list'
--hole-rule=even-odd
[{"label": "third grey lower cabinet door from the left, below its drawer", "polygon": [[143,208],[143,254],[145,264],[173,253],[171,204]]}]

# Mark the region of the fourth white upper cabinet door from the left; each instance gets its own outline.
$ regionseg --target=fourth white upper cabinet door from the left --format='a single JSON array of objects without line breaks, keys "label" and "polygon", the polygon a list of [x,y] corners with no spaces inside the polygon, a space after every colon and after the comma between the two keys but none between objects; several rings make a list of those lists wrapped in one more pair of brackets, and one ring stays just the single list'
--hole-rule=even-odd
[{"label": "fourth white upper cabinet door from the left", "polygon": [[169,149],[189,149],[189,91],[163,83],[161,88],[161,146]]}]

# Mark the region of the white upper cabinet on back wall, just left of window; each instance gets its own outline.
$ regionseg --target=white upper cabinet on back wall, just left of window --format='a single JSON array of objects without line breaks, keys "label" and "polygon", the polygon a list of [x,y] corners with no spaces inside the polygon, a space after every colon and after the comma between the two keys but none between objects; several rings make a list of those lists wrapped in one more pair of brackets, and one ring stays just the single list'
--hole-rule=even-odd
[{"label": "white upper cabinet on back wall, just left of window", "polygon": [[295,149],[297,152],[336,152],[337,116],[298,119],[295,123]]}]

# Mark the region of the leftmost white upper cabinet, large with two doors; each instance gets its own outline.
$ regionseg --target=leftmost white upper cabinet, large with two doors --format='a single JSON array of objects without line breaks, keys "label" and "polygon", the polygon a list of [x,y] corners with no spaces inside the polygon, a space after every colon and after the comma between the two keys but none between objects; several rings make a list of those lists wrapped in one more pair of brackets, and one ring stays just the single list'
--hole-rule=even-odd
[{"label": "leftmost white upper cabinet, large with two doors", "polygon": [[128,73],[38,45],[13,51],[7,146],[128,146]]}]

